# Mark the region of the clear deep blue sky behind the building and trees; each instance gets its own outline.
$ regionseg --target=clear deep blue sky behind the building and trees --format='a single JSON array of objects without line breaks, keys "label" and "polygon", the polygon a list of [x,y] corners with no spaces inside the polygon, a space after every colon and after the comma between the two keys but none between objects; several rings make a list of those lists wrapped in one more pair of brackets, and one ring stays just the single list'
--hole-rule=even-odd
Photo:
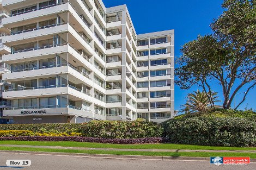
[{"label": "clear deep blue sky behind the building and trees", "polygon": [[[181,55],[180,48],[184,43],[196,39],[199,34],[211,33],[209,24],[223,11],[222,0],[103,0],[103,3],[107,8],[126,4],[137,34],[174,29],[175,57]],[[175,67],[177,66],[175,65]],[[212,82],[212,84],[215,83]],[[175,110],[179,110],[180,105],[185,103],[187,93],[197,89],[197,87],[193,87],[190,90],[181,90],[175,86]],[[216,84],[213,90],[219,92],[219,99],[223,100],[221,87]],[[245,88],[239,91],[239,93],[241,92],[245,92]],[[252,108],[255,110],[254,95],[256,95],[256,88],[248,93],[245,102],[239,109]],[[241,98],[242,95],[237,95],[236,103],[239,103]]]}]

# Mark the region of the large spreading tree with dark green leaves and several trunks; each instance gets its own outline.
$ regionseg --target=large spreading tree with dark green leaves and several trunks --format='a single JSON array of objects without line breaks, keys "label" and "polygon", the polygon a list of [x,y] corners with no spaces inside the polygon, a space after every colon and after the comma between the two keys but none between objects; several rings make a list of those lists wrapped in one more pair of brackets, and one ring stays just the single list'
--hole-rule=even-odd
[{"label": "large spreading tree with dark green leaves and several trunks", "polygon": [[246,87],[245,101],[256,84],[256,3],[254,0],[224,0],[223,14],[211,23],[212,35],[185,43],[175,69],[181,89],[201,86],[212,101],[212,86],[219,84],[223,109],[229,109],[236,93]]}]

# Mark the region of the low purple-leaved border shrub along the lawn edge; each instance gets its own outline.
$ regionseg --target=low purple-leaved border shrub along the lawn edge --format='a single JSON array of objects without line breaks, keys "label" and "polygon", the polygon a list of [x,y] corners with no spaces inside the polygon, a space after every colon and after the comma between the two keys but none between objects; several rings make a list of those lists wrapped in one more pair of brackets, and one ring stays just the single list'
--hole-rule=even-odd
[{"label": "low purple-leaved border shrub along the lawn edge", "polygon": [[147,138],[94,138],[80,136],[20,136],[20,137],[0,137],[0,141],[73,141],[73,142],[97,142],[97,143],[115,143],[115,144],[143,144],[160,143],[164,139],[161,137]]}]

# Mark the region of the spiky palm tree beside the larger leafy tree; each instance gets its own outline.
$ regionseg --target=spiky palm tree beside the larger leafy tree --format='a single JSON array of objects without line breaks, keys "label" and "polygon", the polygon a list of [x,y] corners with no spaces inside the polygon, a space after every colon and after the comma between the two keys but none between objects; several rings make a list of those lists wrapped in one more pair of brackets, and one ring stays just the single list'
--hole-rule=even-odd
[{"label": "spiky palm tree beside the larger leafy tree", "polygon": [[[211,95],[214,102],[219,102],[219,100],[217,100],[216,92],[211,92]],[[204,91],[200,92],[197,90],[194,91],[194,93],[188,93],[186,98],[186,104],[181,105],[182,109],[180,110],[180,112],[185,112],[185,114],[191,114],[193,112],[205,111],[213,108],[213,106],[210,104],[211,102],[209,98]]]}]

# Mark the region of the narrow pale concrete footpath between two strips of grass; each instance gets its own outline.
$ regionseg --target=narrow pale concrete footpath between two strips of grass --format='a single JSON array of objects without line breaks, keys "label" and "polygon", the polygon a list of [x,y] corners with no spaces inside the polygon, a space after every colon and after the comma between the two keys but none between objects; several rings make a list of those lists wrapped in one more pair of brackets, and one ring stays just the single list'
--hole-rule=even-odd
[{"label": "narrow pale concrete footpath between two strips of grass", "polygon": [[192,150],[192,149],[120,149],[120,148],[85,148],[85,147],[62,147],[62,146],[32,146],[16,144],[0,144],[2,147],[21,147],[21,148],[48,148],[48,149],[71,149],[71,150],[114,150],[114,151],[139,151],[139,152],[236,152],[236,153],[255,153],[255,150]]}]

